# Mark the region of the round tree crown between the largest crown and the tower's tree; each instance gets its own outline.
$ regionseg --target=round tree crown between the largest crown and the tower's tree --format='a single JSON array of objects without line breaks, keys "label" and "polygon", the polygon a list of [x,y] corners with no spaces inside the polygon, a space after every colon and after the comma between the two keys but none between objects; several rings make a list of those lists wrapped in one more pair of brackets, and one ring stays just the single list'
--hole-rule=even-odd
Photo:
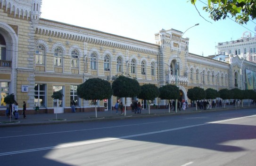
[{"label": "round tree crown between the largest crown and the tower's tree", "polygon": [[154,100],[159,96],[159,90],[154,84],[144,84],[140,86],[140,94],[138,95],[138,98],[142,98],[145,100]]}]

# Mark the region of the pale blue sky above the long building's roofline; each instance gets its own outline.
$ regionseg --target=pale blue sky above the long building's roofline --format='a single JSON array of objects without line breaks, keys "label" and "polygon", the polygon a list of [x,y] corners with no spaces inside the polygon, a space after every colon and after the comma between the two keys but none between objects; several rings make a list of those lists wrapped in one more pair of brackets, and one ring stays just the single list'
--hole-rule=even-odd
[{"label": "pale blue sky above the long building's roofline", "polygon": [[153,44],[159,30],[184,32],[199,23],[183,38],[190,38],[190,53],[204,56],[214,55],[215,45],[241,38],[245,31],[255,35],[256,20],[242,26],[234,18],[214,22],[202,10],[202,2],[197,0],[196,6],[207,21],[187,0],[42,0],[41,18]]}]

